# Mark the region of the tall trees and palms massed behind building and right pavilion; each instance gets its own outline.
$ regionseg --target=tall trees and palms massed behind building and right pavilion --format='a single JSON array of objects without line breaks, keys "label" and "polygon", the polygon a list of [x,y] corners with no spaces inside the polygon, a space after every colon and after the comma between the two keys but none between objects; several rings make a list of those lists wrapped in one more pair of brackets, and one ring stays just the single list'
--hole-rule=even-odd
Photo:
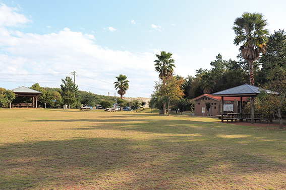
[{"label": "tall trees and palms massed behind building and right pavilion", "polygon": [[[256,112],[274,114],[282,119],[286,114],[286,36],[284,30],[269,34],[265,29],[266,25],[267,20],[260,13],[244,13],[237,18],[233,27],[236,34],[234,44],[241,45],[237,60],[224,60],[218,54],[210,62],[211,69],[200,68],[196,70],[195,76],[183,78],[175,75],[176,66],[175,60],[171,59],[172,54],[161,51],[154,61],[159,82],[155,83],[149,105],[159,108],[161,114],[165,110],[165,104],[176,105],[175,107],[182,110],[192,110],[194,103],[191,100],[203,93],[249,83],[275,91],[260,93],[255,99]],[[176,86],[173,85],[174,89],[180,86],[182,91],[179,92],[177,88],[176,98],[168,101],[162,86],[167,85],[167,80],[174,78],[178,80]]]}]

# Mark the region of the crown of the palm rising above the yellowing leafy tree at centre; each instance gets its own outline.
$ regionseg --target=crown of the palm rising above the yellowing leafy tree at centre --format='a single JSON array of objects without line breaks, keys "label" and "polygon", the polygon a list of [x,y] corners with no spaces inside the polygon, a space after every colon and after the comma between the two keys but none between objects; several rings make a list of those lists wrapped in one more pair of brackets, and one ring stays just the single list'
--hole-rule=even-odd
[{"label": "crown of the palm rising above the yellowing leafy tree at centre", "polygon": [[155,70],[159,72],[159,78],[163,79],[163,77],[170,77],[173,75],[174,68],[176,67],[174,59],[171,59],[171,54],[170,52],[166,53],[165,51],[161,51],[161,54],[158,55],[156,54],[156,57],[158,60],[155,60]]}]

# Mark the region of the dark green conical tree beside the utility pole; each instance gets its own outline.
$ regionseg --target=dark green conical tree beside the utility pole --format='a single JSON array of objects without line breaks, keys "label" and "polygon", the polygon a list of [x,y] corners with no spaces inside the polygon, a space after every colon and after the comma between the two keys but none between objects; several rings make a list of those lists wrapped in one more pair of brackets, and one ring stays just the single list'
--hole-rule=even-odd
[{"label": "dark green conical tree beside the utility pole", "polygon": [[70,76],[66,76],[62,79],[63,84],[61,84],[62,97],[64,104],[70,105],[77,104],[76,95],[78,93],[78,85],[76,85]]}]

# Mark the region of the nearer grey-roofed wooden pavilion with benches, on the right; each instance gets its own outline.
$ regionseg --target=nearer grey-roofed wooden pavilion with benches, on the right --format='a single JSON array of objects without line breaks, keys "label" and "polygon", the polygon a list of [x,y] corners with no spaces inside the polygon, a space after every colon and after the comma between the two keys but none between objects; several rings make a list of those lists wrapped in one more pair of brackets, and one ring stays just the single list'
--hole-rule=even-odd
[{"label": "nearer grey-roofed wooden pavilion with benches, on the right", "polygon": [[[222,91],[218,91],[215,93],[212,93],[212,96],[216,97],[221,97],[221,122],[223,123],[223,120],[226,119],[228,120],[240,120],[243,121],[244,119],[249,120],[251,119],[251,124],[254,125],[254,120],[265,120],[265,121],[270,121],[272,123],[272,115],[269,115],[268,118],[262,118],[262,114],[254,114],[254,97],[256,97],[261,90],[265,90],[262,88],[259,88],[257,86],[252,86],[249,84],[243,84],[240,86],[236,86],[233,88],[225,89]],[[267,93],[271,93],[272,91],[270,90],[265,90]],[[236,114],[224,114],[223,113],[223,97],[240,97],[240,102],[241,102],[241,108],[243,107],[242,105],[242,100],[243,97],[250,97],[251,100],[251,114],[244,114],[242,113],[236,113]],[[249,115],[249,116],[248,116]],[[251,116],[251,117],[250,117]],[[260,116],[260,117],[255,117],[255,116]]]}]

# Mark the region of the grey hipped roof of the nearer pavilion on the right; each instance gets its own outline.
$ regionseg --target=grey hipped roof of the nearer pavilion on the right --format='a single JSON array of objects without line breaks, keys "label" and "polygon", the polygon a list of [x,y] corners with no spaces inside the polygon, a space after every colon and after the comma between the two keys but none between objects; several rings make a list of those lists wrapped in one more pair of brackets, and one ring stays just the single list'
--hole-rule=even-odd
[{"label": "grey hipped roof of the nearer pavilion on the right", "polygon": [[[212,93],[211,95],[216,97],[251,97],[257,96],[260,93],[259,90],[262,90],[262,88],[249,84],[243,84],[240,86]],[[267,93],[270,92],[269,90],[266,91]]]}]

